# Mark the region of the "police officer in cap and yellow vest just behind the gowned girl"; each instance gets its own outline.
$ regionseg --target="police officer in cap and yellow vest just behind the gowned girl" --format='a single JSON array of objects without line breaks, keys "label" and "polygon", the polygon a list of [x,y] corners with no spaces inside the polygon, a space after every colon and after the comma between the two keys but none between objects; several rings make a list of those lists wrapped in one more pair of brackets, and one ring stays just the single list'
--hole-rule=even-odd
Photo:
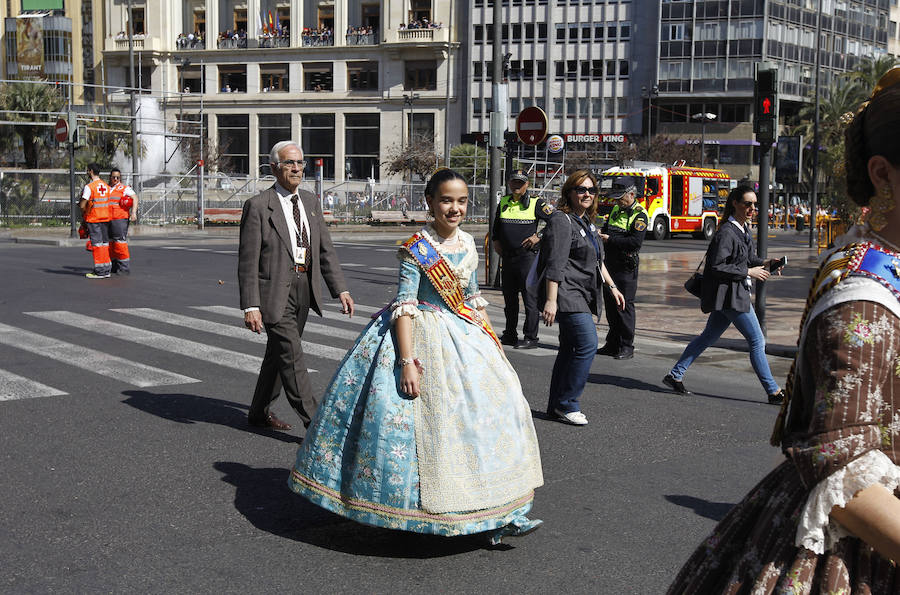
[{"label": "police officer in cap and yellow vest just behind the gowned girl", "polygon": [[[502,257],[501,283],[503,284],[503,308],[506,328],[500,337],[504,345],[516,349],[537,347],[537,330],[540,312],[537,306],[536,288],[527,287],[525,281],[534,262],[537,244],[538,219],[548,221],[553,205],[542,198],[528,196],[528,175],[517,169],[509,176],[510,193],[500,199],[494,217],[494,252]],[[524,339],[518,341],[516,327],[519,322],[519,294],[525,303]]]}]

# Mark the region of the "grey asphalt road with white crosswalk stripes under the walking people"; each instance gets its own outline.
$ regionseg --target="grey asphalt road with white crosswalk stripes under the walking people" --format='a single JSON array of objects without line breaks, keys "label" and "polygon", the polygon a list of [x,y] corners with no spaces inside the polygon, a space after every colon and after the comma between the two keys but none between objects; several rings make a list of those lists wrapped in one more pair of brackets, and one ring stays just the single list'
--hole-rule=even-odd
[{"label": "grey asphalt road with white crosswalk stripes under the walking people", "polygon": [[[0,591],[659,593],[781,458],[746,354],[692,368],[683,397],[659,383],[682,345],[658,342],[595,360],[588,426],[535,413],[536,533],[488,549],[345,521],[288,490],[297,430],[246,425],[264,344],[240,324],[236,250],[136,241],[132,276],[89,281],[81,248],[0,243]],[[338,250],[366,308],[311,317],[317,391],[396,288],[392,242]],[[508,352],[535,412],[555,336]]]}]

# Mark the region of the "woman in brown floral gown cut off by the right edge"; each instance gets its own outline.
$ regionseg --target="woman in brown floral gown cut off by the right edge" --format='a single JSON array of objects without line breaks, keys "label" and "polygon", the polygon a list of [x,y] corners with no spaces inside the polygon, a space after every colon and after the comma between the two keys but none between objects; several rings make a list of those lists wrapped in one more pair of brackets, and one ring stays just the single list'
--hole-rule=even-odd
[{"label": "woman in brown floral gown cut off by the right edge", "polygon": [[900,67],[846,131],[871,210],[810,289],[772,442],[787,461],[719,523],[670,593],[900,588]]}]

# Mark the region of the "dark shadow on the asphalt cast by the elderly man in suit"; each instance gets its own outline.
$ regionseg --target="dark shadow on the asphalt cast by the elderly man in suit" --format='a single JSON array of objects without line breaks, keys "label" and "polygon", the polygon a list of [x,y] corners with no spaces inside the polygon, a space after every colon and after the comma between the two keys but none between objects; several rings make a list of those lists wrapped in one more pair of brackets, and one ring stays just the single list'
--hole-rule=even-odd
[{"label": "dark shadow on the asphalt cast by the elderly man in suit", "polygon": [[185,393],[154,394],[145,390],[126,390],[122,394],[128,397],[122,401],[126,405],[176,423],[218,424],[282,442],[297,441],[291,434],[247,425],[248,406],[243,403]]}]

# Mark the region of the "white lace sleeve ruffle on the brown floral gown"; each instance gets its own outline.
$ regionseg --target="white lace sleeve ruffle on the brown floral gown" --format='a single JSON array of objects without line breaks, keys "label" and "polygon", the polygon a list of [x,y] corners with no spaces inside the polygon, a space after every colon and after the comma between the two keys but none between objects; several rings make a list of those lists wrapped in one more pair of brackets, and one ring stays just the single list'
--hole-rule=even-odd
[{"label": "white lace sleeve ruffle on the brown floral gown", "polygon": [[838,540],[853,537],[831,519],[831,509],[835,506],[843,508],[857,492],[875,484],[883,485],[891,492],[900,486],[900,467],[880,450],[864,454],[819,482],[800,514],[794,545],[824,554]]}]

